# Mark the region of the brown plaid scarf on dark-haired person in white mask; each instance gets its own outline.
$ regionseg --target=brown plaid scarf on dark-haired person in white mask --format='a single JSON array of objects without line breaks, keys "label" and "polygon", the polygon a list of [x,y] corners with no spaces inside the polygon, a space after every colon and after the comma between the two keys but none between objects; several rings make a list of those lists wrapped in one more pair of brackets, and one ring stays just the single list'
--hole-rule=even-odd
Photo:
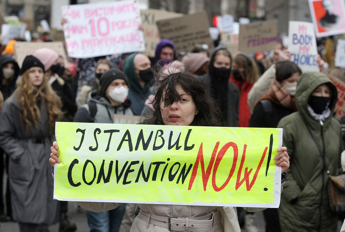
[{"label": "brown plaid scarf on dark-haired person in white mask", "polygon": [[291,96],[283,85],[275,79],[273,79],[268,93],[266,93],[260,101],[264,99],[269,99],[277,105],[282,105],[285,108],[297,111],[295,96]]}]

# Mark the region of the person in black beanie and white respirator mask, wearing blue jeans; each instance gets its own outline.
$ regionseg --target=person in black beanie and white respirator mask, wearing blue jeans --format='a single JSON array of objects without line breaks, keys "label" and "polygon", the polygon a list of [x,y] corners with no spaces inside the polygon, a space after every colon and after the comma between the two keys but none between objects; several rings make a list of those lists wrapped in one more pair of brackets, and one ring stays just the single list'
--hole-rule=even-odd
[{"label": "person in black beanie and white respirator mask, wearing blue jeans", "polygon": [[[114,114],[133,115],[129,108],[128,78],[118,68],[112,68],[100,77],[100,90],[92,92],[88,103],[76,113],[73,122],[114,123]],[[104,212],[86,211],[90,231],[118,232],[126,204]]]}]

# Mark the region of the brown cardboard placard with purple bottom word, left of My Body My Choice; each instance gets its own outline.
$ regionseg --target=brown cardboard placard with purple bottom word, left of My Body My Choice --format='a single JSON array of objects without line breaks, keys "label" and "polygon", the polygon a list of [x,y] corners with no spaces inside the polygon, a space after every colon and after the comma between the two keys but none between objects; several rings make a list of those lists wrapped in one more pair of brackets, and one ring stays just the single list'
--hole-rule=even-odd
[{"label": "brown cardboard placard with purple bottom word, left of My Body My Choice", "polygon": [[239,50],[243,53],[270,51],[282,42],[276,20],[239,25]]}]

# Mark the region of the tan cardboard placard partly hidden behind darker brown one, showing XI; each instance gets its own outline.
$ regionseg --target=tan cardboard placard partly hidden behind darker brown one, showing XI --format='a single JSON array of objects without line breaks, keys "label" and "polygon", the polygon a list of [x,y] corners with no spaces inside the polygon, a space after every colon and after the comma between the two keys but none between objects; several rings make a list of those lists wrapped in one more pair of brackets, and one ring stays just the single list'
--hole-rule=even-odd
[{"label": "tan cardboard placard partly hidden behind darker brown one, showing XI", "polygon": [[140,10],[140,14],[145,39],[145,51],[142,53],[149,57],[155,57],[156,46],[160,41],[156,22],[163,19],[178,18],[183,14],[155,9]]}]

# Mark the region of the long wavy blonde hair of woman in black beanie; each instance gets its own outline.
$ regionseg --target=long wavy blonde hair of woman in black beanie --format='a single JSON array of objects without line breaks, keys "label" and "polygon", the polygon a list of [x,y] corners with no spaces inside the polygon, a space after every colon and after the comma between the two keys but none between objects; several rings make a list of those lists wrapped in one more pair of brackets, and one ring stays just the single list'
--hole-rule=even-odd
[{"label": "long wavy blonde hair of woman in black beanie", "polygon": [[48,84],[48,80],[43,78],[40,86],[36,87],[29,78],[29,71],[25,71],[17,85],[17,97],[20,110],[23,116],[23,123],[28,130],[30,126],[38,128],[40,120],[40,110],[37,100],[41,99],[41,104],[45,104],[49,115],[49,131],[52,133],[55,122],[61,117],[61,100]]}]

